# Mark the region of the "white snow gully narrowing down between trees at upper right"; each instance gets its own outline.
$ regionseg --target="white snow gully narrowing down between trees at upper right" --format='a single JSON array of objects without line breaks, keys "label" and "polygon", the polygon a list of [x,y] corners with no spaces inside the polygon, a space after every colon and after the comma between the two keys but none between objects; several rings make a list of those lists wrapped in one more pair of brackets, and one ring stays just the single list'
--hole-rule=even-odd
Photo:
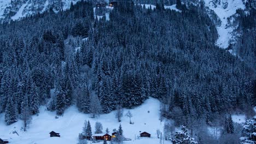
[{"label": "white snow gully narrowing down between trees at upper right", "polygon": [[[219,39],[217,40],[217,45],[226,49],[229,46],[229,40],[232,38],[231,32],[234,31],[234,28],[227,27],[228,24],[227,18],[236,13],[238,8],[245,9],[245,5],[242,0],[221,0],[220,4],[217,7],[214,7],[212,0],[204,0],[206,7],[212,9],[222,20],[222,25],[217,27]],[[228,2],[228,7],[224,9],[224,2]]]}]

